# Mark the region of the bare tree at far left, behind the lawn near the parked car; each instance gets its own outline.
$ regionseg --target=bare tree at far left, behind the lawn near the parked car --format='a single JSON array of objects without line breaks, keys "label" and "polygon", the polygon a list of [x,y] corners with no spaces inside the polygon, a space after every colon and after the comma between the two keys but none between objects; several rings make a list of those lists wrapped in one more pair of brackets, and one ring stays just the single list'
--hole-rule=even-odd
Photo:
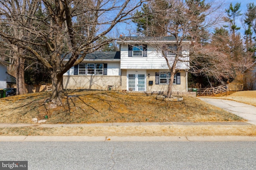
[{"label": "bare tree at far left, behind the lawn near the parked car", "polygon": [[[28,6],[30,9],[28,10]],[[20,39],[22,37],[27,37],[26,31],[22,28],[21,25],[28,25],[30,21],[26,18],[26,15],[33,16],[37,4],[33,1],[1,1],[1,30],[5,33],[8,32],[13,39]],[[1,31],[1,33],[2,33]],[[1,37],[2,41],[5,41],[4,37]],[[8,45],[8,46],[7,46]],[[10,57],[10,63],[13,65],[10,67],[10,73],[16,77],[17,82],[17,92],[16,94],[25,94],[25,80],[24,80],[24,62],[25,50],[20,48],[14,42],[5,41],[5,47],[8,49],[8,55],[12,54]]]}]

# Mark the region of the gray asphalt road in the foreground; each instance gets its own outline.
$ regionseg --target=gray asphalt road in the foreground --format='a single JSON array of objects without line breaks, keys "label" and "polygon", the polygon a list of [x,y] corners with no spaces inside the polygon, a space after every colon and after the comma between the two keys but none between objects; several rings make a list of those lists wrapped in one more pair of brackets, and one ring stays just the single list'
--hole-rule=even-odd
[{"label": "gray asphalt road in the foreground", "polygon": [[29,170],[252,170],[256,142],[0,142]]}]

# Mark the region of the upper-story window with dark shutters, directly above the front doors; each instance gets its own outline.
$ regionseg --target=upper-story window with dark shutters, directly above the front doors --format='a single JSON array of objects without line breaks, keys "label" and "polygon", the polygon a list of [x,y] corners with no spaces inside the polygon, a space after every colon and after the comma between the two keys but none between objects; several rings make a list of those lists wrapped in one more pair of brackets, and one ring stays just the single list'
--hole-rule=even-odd
[{"label": "upper-story window with dark shutters, directly above the front doors", "polygon": [[128,57],[147,57],[147,45],[128,45]]}]

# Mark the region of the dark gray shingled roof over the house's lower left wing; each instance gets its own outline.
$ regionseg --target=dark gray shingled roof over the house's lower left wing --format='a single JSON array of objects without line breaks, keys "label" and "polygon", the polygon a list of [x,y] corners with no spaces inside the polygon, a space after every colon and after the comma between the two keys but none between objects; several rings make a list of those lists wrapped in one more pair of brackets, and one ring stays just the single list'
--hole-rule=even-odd
[{"label": "dark gray shingled roof over the house's lower left wing", "polygon": [[[64,60],[69,60],[71,53],[66,55]],[[84,60],[118,60],[120,59],[120,51],[95,51],[87,54]]]}]

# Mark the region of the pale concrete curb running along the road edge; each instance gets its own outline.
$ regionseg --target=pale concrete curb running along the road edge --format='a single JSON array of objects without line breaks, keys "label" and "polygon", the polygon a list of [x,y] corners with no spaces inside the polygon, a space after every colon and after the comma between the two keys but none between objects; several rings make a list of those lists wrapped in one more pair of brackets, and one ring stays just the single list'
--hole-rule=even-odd
[{"label": "pale concrete curb running along the road edge", "polygon": [[256,141],[250,136],[0,136],[0,142]]}]

